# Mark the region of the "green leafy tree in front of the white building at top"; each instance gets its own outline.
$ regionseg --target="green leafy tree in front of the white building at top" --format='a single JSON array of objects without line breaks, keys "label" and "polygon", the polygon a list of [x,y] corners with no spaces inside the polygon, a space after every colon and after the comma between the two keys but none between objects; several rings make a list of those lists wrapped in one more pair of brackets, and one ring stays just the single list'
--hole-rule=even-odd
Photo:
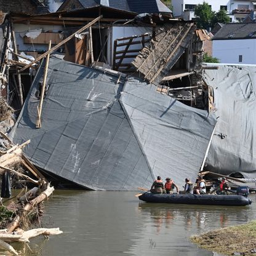
[{"label": "green leafy tree in front of the white building at top", "polygon": [[194,15],[196,15],[195,20],[198,28],[204,28],[205,30],[208,30],[210,27],[213,28],[217,22],[230,22],[230,17],[228,17],[225,10],[222,9],[218,12],[214,12],[207,2],[198,4],[194,9]]}]

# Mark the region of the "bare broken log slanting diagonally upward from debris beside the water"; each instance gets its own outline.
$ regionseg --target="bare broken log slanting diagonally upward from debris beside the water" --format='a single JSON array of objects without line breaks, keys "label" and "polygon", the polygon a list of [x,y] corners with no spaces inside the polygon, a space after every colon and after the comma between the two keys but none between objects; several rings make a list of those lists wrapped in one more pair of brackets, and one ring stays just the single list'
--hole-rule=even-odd
[{"label": "bare broken log slanting diagonally upward from debris beside the water", "polygon": [[15,230],[15,228],[17,228],[17,226],[20,225],[20,219],[23,215],[26,214],[26,212],[28,212],[28,210],[31,210],[32,207],[37,206],[40,202],[44,201],[45,199],[47,199],[50,194],[52,194],[52,192],[54,191],[54,187],[53,186],[49,186],[47,187],[47,189],[45,191],[43,191],[41,194],[39,194],[38,197],[34,198],[33,200],[31,200],[30,202],[28,202],[27,204],[25,204],[22,212],[19,212],[16,217],[12,220],[12,222],[10,222],[7,225],[7,230],[8,233],[12,233],[12,231]]}]

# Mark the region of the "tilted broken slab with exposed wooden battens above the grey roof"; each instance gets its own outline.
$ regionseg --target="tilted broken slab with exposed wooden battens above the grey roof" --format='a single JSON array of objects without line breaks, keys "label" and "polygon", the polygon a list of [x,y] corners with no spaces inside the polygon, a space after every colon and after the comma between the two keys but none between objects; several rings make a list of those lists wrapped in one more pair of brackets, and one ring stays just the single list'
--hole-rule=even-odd
[{"label": "tilted broken slab with exposed wooden battens above the grey roof", "polygon": [[140,51],[132,65],[147,81],[158,84],[185,52],[195,29],[196,25],[189,22],[176,22],[162,28],[156,33],[156,38]]}]

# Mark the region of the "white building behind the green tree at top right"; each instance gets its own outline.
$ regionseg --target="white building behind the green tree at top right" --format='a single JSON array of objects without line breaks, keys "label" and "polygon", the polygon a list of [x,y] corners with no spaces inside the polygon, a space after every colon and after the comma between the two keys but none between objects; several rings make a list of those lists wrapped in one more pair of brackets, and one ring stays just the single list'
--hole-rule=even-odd
[{"label": "white building behind the green tree at top right", "polygon": [[183,17],[184,20],[192,20],[194,8],[203,2],[207,2],[215,12],[225,9],[231,22],[241,22],[251,12],[254,12],[254,16],[256,14],[255,0],[172,0],[173,15]]}]

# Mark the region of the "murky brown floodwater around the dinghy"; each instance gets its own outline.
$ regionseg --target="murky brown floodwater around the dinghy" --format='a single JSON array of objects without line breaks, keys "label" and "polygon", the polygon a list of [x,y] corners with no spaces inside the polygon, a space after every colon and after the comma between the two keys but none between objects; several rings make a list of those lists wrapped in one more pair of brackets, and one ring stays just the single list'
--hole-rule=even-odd
[{"label": "murky brown floodwater around the dinghy", "polygon": [[12,246],[26,256],[217,255],[199,249],[190,236],[256,219],[255,194],[246,207],[150,204],[135,194],[55,190],[44,204],[41,224],[59,227],[63,234]]}]

